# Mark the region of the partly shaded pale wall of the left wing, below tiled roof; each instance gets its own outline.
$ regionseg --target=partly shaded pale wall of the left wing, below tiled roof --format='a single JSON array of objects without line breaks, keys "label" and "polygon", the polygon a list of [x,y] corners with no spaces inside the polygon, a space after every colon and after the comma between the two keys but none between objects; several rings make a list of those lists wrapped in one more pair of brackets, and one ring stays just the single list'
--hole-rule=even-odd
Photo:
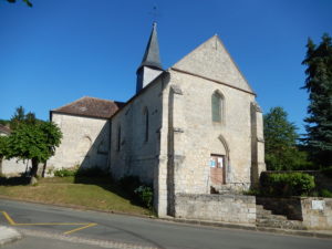
[{"label": "partly shaded pale wall of the left wing, below tiled roof", "polygon": [[61,128],[63,138],[48,168],[82,167],[107,168],[110,121],[52,113],[52,121]]}]

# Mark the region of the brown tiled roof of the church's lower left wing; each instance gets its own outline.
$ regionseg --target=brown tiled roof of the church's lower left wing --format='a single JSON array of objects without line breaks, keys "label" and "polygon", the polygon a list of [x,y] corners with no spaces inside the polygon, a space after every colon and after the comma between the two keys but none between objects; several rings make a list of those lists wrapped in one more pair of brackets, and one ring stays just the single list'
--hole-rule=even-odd
[{"label": "brown tiled roof of the church's lower left wing", "polygon": [[84,96],[68,105],[54,108],[51,112],[90,117],[110,118],[123,105],[124,103],[122,102],[106,101],[96,97]]}]

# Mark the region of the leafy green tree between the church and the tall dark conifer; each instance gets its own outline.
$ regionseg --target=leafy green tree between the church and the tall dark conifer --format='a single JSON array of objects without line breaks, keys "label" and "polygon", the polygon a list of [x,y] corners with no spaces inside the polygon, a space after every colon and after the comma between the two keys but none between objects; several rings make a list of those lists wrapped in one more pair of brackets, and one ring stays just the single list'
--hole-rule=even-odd
[{"label": "leafy green tree between the church and the tall dark conifer", "polygon": [[282,107],[263,115],[266,164],[268,170],[290,170],[308,167],[304,152],[298,149],[297,126],[288,121]]}]

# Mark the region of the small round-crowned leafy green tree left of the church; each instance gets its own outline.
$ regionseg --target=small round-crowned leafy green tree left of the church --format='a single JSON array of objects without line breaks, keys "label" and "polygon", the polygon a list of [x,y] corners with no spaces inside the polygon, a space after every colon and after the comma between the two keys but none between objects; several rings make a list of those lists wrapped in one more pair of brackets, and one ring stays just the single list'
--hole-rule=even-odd
[{"label": "small round-crowned leafy green tree left of the church", "polygon": [[52,122],[21,123],[8,137],[6,158],[31,159],[31,178],[37,176],[40,163],[54,155],[62,133]]}]

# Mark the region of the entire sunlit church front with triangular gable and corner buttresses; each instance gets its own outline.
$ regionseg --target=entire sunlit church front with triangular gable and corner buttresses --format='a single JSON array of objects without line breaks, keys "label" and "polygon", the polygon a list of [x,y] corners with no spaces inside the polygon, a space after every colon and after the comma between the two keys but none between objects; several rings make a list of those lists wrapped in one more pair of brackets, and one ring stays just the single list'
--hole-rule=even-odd
[{"label": "entire sunlit church front with triangular gable and corner buttresses", "polygon": [[[168,215],[175,214],[178,193],[210,193],[211,154],[224,156],[226,178],[226,185],[212,187],[248,189],[252,175],[257,179],[264,169],[261,112],[252,115],[255,94],[217,37],[167,73],[163,91],[158,215],[166,214],[165,207]],[[211,118],[211,96],[216,92],[222,96],[221,122]]]}]

